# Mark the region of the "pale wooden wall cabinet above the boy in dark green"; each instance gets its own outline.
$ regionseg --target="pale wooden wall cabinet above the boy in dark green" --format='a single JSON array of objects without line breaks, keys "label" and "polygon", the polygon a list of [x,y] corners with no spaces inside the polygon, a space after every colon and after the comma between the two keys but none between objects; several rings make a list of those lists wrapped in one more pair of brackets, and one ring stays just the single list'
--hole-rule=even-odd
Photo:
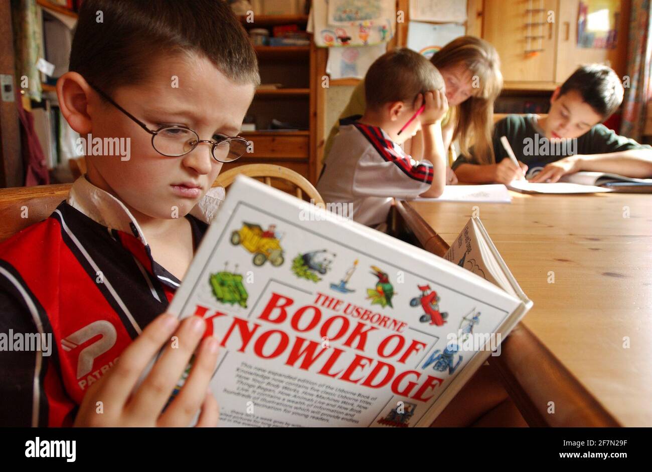
[{"label": "pale wooden wall cabinet above the boy in dark green", "polygon": [[496,46],[505,89],[554,90],[591,62],[625,74],[630,0],[621,0],[615,49],[577,46],[580,0],[484,0],[481,8],[482,38]]}]

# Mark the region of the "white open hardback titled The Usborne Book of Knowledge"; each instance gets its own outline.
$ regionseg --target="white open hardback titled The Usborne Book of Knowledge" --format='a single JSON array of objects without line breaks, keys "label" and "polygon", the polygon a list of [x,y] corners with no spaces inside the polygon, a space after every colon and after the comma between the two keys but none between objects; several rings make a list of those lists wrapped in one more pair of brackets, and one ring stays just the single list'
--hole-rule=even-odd
[{"label": "white open hardback titled The Usborne Book of Knowledge", "polygon": [[168,309],[221,342],[220,426],[429,426],[532,305],[478,219],[460,238],[452,263],[239,176]]}]

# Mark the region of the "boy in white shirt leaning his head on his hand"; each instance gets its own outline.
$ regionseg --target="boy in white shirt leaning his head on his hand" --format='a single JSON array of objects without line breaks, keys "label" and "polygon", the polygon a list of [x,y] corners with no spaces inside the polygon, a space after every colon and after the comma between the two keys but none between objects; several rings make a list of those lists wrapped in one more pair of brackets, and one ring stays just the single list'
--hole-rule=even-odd
[{"label": "boy in white shirt leaning his head on his hand", "polygon": [[[376,59],[364,77],[364,115],[340,120],[317,189],[328,203],[353,203],[353,219],[383,230],[393,198],[439,197],[446,152],[441,119],[448,109],[441,74],[409,49]],[[424,159],[400,147],[422,130]]]}]

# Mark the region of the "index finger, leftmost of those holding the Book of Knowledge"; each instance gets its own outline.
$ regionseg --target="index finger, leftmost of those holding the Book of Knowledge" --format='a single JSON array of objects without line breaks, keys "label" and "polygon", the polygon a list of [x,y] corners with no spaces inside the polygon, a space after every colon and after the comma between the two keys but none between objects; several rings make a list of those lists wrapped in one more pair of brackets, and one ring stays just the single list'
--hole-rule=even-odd
[{"label": "index finger, leftmost of those holding the Book of Knowledge", "polygon": [[111,367],[106,382],[96,392],[97,400],[103,397],[110,399],[114,405],[124,406],[143,370],[178,325],[179,320],[168,313],[161,314],[147,325]]}]

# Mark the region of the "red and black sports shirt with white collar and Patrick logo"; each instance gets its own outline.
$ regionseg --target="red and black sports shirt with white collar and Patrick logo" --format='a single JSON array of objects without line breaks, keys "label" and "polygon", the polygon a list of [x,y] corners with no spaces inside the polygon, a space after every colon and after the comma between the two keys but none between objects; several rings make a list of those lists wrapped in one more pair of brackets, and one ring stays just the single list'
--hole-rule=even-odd
[{"label": "red and black sports shirt with white collar and Patrick logo", "polygon": [[[192,213],[205,216],[198,206]],[[186,218],[196,248],[207,221]],[[72,425],[89,385],[166,311],[179,284],[126,207],[80,178],[48,219],[0,243],[0,335],[52,340],[50,355],[15,344],[0,351],[0,423]]]}]

